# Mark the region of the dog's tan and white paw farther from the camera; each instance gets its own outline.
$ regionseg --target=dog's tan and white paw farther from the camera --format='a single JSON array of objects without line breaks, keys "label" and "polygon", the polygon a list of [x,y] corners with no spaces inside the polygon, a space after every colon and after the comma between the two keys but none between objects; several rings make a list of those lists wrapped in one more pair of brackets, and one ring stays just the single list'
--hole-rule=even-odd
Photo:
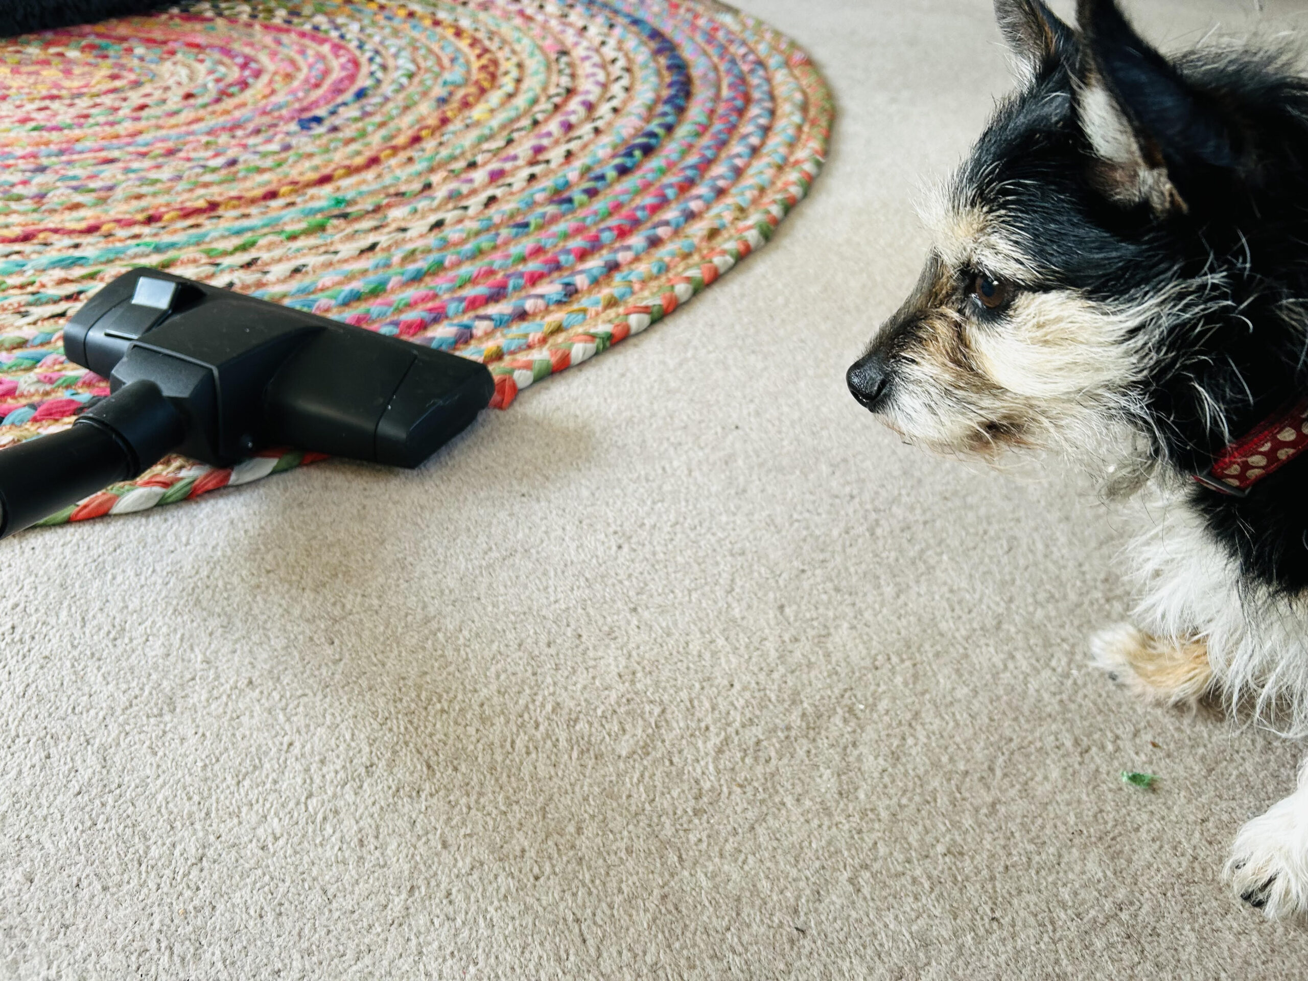
[{"label": "dog's tan and white paw farther from the camera", "polygon": [[1152,702],[1194,708],[1213,687],[1209,647],[1198,637],[1154,637],[1117,624],[1096,633],[1090,649],[1096,667]]}]

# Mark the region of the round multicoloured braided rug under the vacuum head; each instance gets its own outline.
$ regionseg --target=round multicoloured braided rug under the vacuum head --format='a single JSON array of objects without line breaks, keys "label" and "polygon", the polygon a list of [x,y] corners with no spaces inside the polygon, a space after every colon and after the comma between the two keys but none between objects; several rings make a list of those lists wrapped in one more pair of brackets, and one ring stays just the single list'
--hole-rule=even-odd
[{"label": "round multicoloured braided rug under the vacuum head", "polygon": [[[506,408],[763,246],[831,120],[710,3],[211,0],[0,42],[0,446],[109,394],[60,327],[133,266],[483,361]],[[174,456],[46,523],[309,459]]]}]

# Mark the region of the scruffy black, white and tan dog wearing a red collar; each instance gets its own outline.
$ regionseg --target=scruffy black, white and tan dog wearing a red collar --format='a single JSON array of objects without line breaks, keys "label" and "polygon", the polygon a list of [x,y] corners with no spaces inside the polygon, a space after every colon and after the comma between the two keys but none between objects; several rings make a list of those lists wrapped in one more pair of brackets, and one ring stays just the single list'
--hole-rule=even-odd
[{"label": "scruffy black, white and tan dog wearing a red collar", "polygon": [[[1113,0],[995,0],[1020,77],[925,209],[917,288],[846,381],[910,442],[1056,451],[1158,515],[1133,625],[1147,698],[1308,734],[1308,81],[1286,51],[1164,58]],[[1226,876],[1308,912],[1308,763]]]}]

